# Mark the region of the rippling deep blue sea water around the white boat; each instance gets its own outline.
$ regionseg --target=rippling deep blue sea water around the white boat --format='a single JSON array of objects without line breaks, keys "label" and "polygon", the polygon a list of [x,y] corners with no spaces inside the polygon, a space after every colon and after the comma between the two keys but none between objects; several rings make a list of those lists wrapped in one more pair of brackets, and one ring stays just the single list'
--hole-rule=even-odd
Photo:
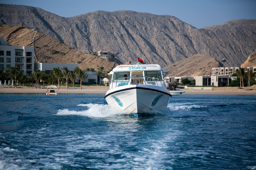
[{"label": "rippling deep blue sea water around the white boat", "polygon": [[173,96],[135,117],[102,95],[0,94],[0,169],[256,169],[256,96]]}]

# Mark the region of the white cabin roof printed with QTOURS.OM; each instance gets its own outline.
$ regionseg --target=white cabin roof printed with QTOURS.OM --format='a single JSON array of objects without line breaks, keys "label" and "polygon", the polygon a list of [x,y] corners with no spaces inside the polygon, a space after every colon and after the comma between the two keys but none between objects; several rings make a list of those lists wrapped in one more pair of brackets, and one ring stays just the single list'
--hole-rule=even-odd
[{"label": "white cabin roof printed with QTOURS.OM", "polygon": [[119,71],[155,71],[155,70],[162,71],[163,73],[167,72],[166,70],[163,70],[162,67],[158,64],[140,64],[140,65],[118,65],[108,74],[112,75],[114,72],[119,72]]}]

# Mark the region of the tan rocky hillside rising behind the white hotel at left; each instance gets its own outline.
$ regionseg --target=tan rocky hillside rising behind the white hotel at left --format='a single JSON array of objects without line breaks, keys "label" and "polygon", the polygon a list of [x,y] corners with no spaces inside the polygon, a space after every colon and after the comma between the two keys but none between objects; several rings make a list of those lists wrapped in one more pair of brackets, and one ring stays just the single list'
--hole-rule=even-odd
[{"label": "tan rocky hillside rising behind the white hotel at left", "polygon": [[[101,58],[95,54],[86,54],[68,45],[48,37],[35,30],[26,29],[23,26],[9,26],[0,24],[0,34],[4,35],[7,45],[33,46],[35,36],[35,53],[39,62],[78,64],[79,68],[92,67],[97,69],[103,66],[106,71],[121,62],[115,58]],[[80,62],[81,63],[80,63]]]}]

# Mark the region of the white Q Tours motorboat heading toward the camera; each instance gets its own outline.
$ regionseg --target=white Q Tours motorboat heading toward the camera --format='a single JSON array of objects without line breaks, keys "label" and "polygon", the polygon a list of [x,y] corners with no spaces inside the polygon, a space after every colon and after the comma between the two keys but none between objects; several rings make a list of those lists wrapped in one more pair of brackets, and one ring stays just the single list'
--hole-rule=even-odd
[{"label": "white Q Tours motorboat heading toward the camera", "polygon": [[105,99],[129,113],[166,108],[172,96],[163,80],[167,73],[158,64],[119,65],[108,73],[111,81]]}]

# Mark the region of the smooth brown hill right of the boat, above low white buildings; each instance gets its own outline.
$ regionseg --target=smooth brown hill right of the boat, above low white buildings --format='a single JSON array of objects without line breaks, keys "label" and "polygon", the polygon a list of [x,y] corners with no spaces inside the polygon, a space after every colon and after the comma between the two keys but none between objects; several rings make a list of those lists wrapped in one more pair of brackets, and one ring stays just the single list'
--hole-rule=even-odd
[{"label": "smooth brown hill right of the boat, above low white buildings", "polygon": [[202,54],[195,54],[163,69],[169,71],[167,76],[205,76],[211,75],[213,67],[223,64],[215,58]]}]

